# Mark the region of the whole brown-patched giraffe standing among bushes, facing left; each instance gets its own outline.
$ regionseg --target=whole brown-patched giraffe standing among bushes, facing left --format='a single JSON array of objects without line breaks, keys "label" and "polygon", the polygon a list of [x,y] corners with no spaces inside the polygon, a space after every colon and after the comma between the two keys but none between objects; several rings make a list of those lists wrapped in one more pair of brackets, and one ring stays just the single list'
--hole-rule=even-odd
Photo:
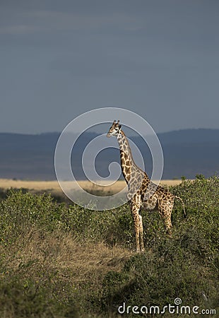
[{"label": "whole brown-patched giraffe standing among bushes, facing left", "polygon": [[[139,213],[141,209],[153,211],[157,208],[165,223],[167,233],[171,235],[171,213],[174,199],[179,199],[180,201],[182,201],[182,199],[179,198],[179,196],[174,196],[174,194],[164,187],[151,182],[146,172],[136,165],[131,154],[129,141],[121,128],[122,125],[119,124],[119,120],[117,122],[114,120],[107,133],[107,137],[116,136],[119,143],[122,174],[128,185],[127,199],[129,200],[129,206],[134,220],[136,252],[143,252],[143,223],[141,214]],[[183,201],[182,206],[184,216],[186,216]]]}]

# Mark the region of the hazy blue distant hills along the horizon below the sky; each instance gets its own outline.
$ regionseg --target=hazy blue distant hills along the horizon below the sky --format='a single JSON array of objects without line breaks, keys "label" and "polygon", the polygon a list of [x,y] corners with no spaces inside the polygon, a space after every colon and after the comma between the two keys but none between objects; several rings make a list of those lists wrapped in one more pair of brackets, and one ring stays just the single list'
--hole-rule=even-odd
[{"label": "hazy blue distant hills along the horizon below the sky", "polygon": [[[54,150],[59,133],[25,135],[0,134],[0,178],[56,179]],[[85,146],[97,134],[84,133],[72,153],[72,170],[77,179],[85,179],[81,157]],[[70,137],[71,138],[71,137]],[[150,138],[150,137],[148,137]],[[219,129],[185,129],[158,134],[164,153],[163,179],[206,177],[219,171]],[[143,155],[146,172],[151,175],[152,158],[141,137],[130,137]],[[109,163],[119,163],[119,150],[105,149],[97,155],[95,167],[102,177],[109,174]]]}]

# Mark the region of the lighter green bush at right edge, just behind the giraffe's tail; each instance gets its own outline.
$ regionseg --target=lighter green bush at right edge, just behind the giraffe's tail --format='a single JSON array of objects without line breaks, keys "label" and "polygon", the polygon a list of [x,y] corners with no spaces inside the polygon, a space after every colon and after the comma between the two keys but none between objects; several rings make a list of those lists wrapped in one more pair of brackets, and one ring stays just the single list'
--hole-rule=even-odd
[{"label": "lighter green bush at right edge, just behind the giraffe's tail", "polygon": [[210,249],[218,251],[219,178],[198,177],[194,182],[184,181],[170,190],[185,203],[187,230],[197,229]]}]

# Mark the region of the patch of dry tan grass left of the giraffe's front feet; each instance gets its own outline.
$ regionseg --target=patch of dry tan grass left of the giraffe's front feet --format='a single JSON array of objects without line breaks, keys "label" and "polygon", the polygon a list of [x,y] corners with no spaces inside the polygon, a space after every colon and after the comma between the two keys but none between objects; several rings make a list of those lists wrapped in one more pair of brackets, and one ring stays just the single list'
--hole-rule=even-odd
[{"label": "patch of dry tan grass left of the giraffe's front feet", "polygon": [[[13,261],[11,257],[6,260],[9,272],[19,271],[28,260],[33,259],[32,270],[42,266],[48,272],[59,271],[65,276],[64,280],[71,278],[75,284],[89,280],[97,273],[100,278],[107,271],[121,270],[133,254],[123,247],[107,247],[104,242],[84,242],[82,245],[76,237],[59,230],[42,237],[40,230],[33,229],[20,236],[18,242],[19,246],[13,245],[16,257]],[[40,277],[37,279],[40,282]]]}]

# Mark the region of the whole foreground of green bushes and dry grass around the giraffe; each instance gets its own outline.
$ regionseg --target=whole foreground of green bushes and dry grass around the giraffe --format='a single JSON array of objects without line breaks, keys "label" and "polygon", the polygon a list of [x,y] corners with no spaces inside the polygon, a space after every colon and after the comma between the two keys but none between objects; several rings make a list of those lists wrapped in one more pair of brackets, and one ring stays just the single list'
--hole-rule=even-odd
[{"label": "whole foreground of green bushes and dry grass around the giraffe", "polygon": [[[158,306],[161,311],[176,298],[199,312],[209,310],[201,317],[217,317],[210,310],[219,312],[218,177],[200,175],[170,186],[187,210],[185,220],[175,204],[172,238],[157,212],[143,211],[146,252],[141,254],[133,249],[127,204],[90,211],[30,193],[32,184],[9,184],[0,183],[0,317],[121,317],[118,307],[124,303],[123,317],[153,317],[161,314],[130,310]],[[54,189],[45,184],[35,191]],[[16,189],[6,191],[11,187]]]}]

